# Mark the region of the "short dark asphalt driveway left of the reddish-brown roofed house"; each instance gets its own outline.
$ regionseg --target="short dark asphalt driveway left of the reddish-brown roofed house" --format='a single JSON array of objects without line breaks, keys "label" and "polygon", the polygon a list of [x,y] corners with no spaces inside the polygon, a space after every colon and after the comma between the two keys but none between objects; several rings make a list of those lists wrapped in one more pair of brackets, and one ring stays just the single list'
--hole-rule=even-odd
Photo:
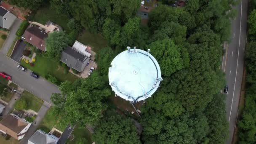
[{"label": "short dark asphalt driveway left of the reddish-brown roofed house", "polygon": [[11,55],[11,59],[13,59],[16,62],[19,62],[21,59],[21,56],[23,55],[22,52],[26,48],[26,43],[24,43],[23,40],[20,40],[20,43],[17,43],[15,48],[13,49],[13,53]]}]

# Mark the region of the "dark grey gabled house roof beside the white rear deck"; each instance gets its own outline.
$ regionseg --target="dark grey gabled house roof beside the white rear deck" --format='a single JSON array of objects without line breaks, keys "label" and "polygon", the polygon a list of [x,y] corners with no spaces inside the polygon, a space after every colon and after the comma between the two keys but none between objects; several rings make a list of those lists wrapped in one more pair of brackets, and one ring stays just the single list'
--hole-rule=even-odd
[{"label": "dark grey gabled house roof beside the white rear deck", "polygon": [[90,59],[88,56],[69,46],[61,52],[61,61],[67,64],[68,67],[72,67],[79,72],[83,71],[83,63],[88,59]]}]

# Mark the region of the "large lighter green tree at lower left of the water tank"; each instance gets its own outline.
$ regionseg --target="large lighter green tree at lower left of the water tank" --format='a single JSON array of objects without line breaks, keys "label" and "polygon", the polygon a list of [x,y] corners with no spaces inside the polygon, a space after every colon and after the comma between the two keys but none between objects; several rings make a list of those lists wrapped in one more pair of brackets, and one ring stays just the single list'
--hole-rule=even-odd
[{"label": "large lighter green tree at lower left of the water tank", "polygon": [[103,99],[110,95],[105,87],[106,83],[96,72],[87,79],[61,83],[61,95],[53,94],[51,97],[56,114],[62,117],[60,123],[85,126],[97,122],[107,107]]}]

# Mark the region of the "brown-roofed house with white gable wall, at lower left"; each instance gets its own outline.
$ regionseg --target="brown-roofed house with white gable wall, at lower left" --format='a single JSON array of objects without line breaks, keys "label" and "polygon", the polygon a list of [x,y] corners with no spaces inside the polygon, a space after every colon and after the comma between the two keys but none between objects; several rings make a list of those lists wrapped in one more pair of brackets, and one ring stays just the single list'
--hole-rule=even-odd
[{"label": "brown-roofed house with white gable wall, at lower left", "polygon": [[9,114],[0,121],[0,132],[20,140],[25,136],[31,124],[14,114]]}]

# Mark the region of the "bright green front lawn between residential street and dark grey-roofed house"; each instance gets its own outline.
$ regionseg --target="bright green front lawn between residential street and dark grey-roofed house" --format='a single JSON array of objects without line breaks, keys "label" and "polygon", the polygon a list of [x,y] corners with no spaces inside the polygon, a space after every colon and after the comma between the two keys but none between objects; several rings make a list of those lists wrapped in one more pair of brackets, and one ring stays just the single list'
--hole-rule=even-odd
[{"label": "bright green front lawn between residential street and dark grey-roofed house", "polygon": [[42,55],[37,55],[35,59],[36,61],[34,62],[33,67],[29,64],[26,64],[25,61],[20,61],[20,63],[22,66],[32,70],[42,77],[45,77],[47,74],[51,74],[61,81],[74,81],[78,78],[69,72],[65,74],[65,69],[59,65],[59,62],[53,61],[47,57],[43,57]]}]

